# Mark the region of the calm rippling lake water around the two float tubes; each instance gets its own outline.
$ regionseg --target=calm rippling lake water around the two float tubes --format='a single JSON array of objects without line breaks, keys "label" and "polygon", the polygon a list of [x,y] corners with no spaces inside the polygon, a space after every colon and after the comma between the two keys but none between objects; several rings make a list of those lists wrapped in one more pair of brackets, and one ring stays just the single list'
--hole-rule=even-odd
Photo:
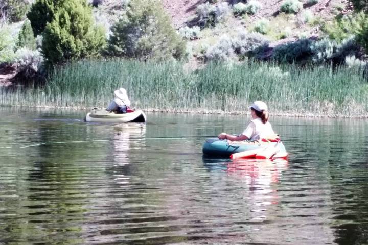
[{"label": "calm rippling lake water around the two float tubes", "polygon": [[84,115],[0,108],[0,244],[368,244],[368,120],[271,118],[289,160],[254,162],[170,138],[249,116]]}]

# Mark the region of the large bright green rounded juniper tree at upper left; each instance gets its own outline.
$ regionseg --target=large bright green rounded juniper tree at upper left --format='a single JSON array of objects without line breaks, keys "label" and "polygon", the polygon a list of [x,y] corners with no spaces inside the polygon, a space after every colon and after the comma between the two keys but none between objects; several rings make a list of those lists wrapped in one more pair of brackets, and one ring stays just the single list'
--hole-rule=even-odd
[{"label": "large bright green rounded juniper tree at upper left", "polygon": [[105,45],[105,33],[94,26],[86,1],[68,0],[57,8],[43,32],[42,53],[51,64],[93,57]]}]

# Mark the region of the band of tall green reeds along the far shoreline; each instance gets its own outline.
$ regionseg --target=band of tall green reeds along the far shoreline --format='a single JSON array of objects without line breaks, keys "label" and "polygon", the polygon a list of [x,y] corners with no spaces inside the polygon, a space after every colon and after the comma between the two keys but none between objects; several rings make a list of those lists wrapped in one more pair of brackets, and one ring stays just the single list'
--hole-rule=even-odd
[{"label": "band of tall green reeds along the far shoreline", "polygon": [[368,115],[363,71],[346,67],[210,63],[188,72],[179,62],[79,61],[55,70],[42,89],[0,89],[0,105],[104,107],[119,87],[141,109],[246,112],[263,100],[273,113]]}]

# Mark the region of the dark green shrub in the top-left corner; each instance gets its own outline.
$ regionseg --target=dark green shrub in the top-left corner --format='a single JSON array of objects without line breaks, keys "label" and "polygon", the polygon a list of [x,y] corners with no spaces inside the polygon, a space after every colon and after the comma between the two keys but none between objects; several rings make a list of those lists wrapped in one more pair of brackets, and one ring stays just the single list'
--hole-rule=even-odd
[{"label": "dark green shrub in the top-left corner", "polygon": [[18,22],[26,17],[27,0],[0,0],[0,19]]}]

